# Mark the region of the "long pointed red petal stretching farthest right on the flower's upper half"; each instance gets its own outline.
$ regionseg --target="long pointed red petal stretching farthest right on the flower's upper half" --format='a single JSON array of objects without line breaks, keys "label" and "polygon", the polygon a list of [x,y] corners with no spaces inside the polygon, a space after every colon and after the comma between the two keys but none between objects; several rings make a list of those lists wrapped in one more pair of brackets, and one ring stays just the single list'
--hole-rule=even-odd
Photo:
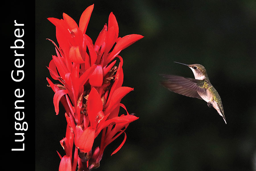
[{"label": "long pointed red petal stretching farthest right on the flower's upper half", "polygon": [[110,61],[112,61],[121,52],[121,50],[127,48],[128,46],[130,46],[131,44],[140,40],[143,37],[144,36],[139,35],[139,34],[129,34],[129,35],[126,35],[126,36],[122,37],[116,43],[113,51],[108,55],[105,63],[108,64]]}]

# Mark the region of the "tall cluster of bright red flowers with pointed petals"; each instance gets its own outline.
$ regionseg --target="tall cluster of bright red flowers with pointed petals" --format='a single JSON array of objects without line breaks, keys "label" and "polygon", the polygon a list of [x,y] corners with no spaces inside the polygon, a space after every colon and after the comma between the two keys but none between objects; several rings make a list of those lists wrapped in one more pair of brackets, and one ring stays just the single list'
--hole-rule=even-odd
[{"label": "tall cluster of bright red flowers with pointed petals", "polygon": [[[110,13],[108,25],[104,25],[93,44],[85,34],[93,7],[89,6],[82,13],[79,26],[65,13],[63,19],[48,18],[56,26],[59,44],[58,48],[53,42],[57,56],[52,56],[48,69],[51,77],[61,84],[53,84],[48,78],[47,81],[55,92],[56,115],[61,101],[67,120],[66,136],[60,141],[66,155],[61,157],[58,153],[61,171],[75,171],[77,163],[79,170],[99,167],[106,146],[124,133],[123,142],[112,153],[115,154],[126,140],[124,131],[129,123],[139,119],[129,114],[125,105],[120,103],[133,88],[122,87],[123,59],[118,54],[143,36],[118,37],[118,24]],[[118,67],[115,66],[115,57],[120,60]],[[118,116],[120,107],[127,111],[126,115]],[[92,151],[94,139],[100,132],[100,147]],[[73,144],[76,147],[74,152]]]}]

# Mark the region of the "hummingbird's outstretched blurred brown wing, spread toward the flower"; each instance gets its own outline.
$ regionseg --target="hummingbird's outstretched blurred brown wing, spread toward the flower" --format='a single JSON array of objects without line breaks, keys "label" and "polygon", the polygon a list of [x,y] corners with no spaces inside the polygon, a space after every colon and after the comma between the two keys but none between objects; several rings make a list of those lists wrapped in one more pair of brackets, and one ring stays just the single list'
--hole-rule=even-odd
[{"label": "hummingbird's outstretched blurred brown wing, spread toward the flower", "polygon": [[196,97],[203,100],[197,91],[206,92],[206,89],[201,88],[200,85],[203,84],[203,80],[196,80],[193,78],[184,78],[181,76],[174,75],[161,75],[166,80],[162,81],[161,84],[173,91],[175,93],[185,95],[188,97]]}]

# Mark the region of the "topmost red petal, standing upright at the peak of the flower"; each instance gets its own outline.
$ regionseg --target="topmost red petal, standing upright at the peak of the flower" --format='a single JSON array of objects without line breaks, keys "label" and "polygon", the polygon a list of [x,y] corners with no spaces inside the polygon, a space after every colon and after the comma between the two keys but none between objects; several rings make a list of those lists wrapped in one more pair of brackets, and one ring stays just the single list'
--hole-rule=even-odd
[{"label": "topmost red petal, standing upright at the peak of the flower", "polygon": [[87,7],[80,17],[79,29],[82,31],[83,34],[86,32],[86,29],[87,29],[87,26],[88,26],[88,23],[89,23],[91,14],[92,14],[93,7],[94,7],[94,4]]}]

